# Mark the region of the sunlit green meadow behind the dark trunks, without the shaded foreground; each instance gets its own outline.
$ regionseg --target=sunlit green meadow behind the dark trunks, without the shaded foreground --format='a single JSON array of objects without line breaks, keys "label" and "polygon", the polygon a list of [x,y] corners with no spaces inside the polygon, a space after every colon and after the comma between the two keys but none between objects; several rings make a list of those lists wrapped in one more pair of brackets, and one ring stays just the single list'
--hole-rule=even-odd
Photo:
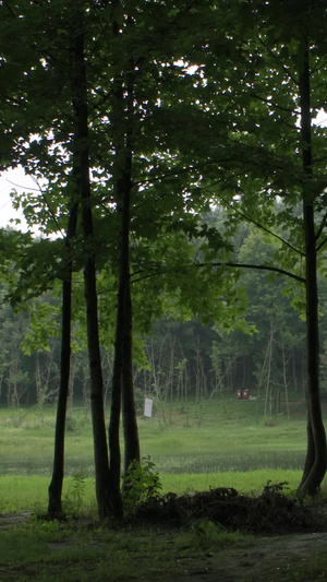
[{"label": "sunlit green meadow behind the dark trunks, without the shaded foreground", "polygon": [[[261,491],[268,480],[294,490],[306,447],[304,403],[291,402],[286,414],[264,417],[259,401],[217,399],[155,407],[138,416],[142,456],[160,474],[162,492],[210,487]],[[108,411],[109,413],[109,411]],[[51,475],[56,409],[0,409],[0,511],[44,511]],[[81,406],[69,413],[64,497],[76,475],[83,478],[85,506],[95,508],[90,415]]]}]

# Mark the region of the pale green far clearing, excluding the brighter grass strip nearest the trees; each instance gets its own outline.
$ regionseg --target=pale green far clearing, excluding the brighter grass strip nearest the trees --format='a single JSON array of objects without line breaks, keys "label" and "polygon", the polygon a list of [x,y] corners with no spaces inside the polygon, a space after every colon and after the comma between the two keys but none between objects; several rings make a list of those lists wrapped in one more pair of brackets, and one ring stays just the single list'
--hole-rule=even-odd
[{"label": "pale green far clearing, excluding the brighter grass strip nearest the trees", "polygon": [[[150,455],[160,473],[211,473],[258,468],[301,468],[306,447],[302,416],[265,419],[255,401],[210,401],[199,408],[175,405],[166,415],[138,418],[142,454]],[[37,412],[0,411],[1,474],[49,475],[53,454],[55,409],[43,419]],[[298,412],[296,412],[298,415]],[[82,409],[70,413],[66,432],[66,475],[94,475],[90,418]]]}]

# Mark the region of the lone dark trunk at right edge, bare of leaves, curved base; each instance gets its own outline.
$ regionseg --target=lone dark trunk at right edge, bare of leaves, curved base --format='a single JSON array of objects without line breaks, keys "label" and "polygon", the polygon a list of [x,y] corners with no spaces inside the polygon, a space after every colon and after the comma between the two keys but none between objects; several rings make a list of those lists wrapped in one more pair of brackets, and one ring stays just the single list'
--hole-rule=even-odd
[{"label": "lone dark trunk at right edge, bare of leaves, curved base", "polygon": [[303,43],[300,75],[301,138],[303,167],[303,223],[305,238],[306,357],[307,357],[307,451],[298,495],[315,495],[326,473],[326,433],[319,390],[319,326],[317,257],[314,221],[315,187],[312,169],[311,87],[308,39]]}]

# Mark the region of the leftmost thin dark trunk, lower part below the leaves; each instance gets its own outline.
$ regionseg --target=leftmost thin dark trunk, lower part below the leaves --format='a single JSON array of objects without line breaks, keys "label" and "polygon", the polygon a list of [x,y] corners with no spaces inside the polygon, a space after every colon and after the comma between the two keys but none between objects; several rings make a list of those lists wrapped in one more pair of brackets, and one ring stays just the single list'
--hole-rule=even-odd
[{"label": "leftmost thin dark trunk, lower part below the leaves", "polygon": [[72,320],[72,237],[76,234],[77,204],[70,211],[69,224],[65,238],[68,253],[66,276],[62,282],[62,313],[61,313],[61,356],[60,356],[60,384],[57,404],[56,432],[55,432],[55,455],[52,478],[49,485],[48,514],[56,518],[62,513],[62,484],[64,474],[64,431],[66,418],[66,405],[70,385],[71,365],[71,320]]}]

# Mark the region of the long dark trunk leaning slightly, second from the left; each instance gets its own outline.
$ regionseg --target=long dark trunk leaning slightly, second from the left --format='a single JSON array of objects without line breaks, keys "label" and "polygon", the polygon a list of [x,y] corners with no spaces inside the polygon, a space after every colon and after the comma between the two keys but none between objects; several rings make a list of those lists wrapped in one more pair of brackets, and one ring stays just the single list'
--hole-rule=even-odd
[{"label": "long dark trunk leaning slightly, second from the left", "polygon": [[93,211],[89,183],[88,116],[83,16],[76,11],[74,35],[73,108],[75,114],[75,176],[82,205],[83,236],[86,251],[84,289],[86,301],[87,348],[90,375],[90,408],[95,454],[96,496],[99,519],[114,511],[110,496],[109,460],[104,407],[104,380],[98,329],[96,261],[94,252]]}]

